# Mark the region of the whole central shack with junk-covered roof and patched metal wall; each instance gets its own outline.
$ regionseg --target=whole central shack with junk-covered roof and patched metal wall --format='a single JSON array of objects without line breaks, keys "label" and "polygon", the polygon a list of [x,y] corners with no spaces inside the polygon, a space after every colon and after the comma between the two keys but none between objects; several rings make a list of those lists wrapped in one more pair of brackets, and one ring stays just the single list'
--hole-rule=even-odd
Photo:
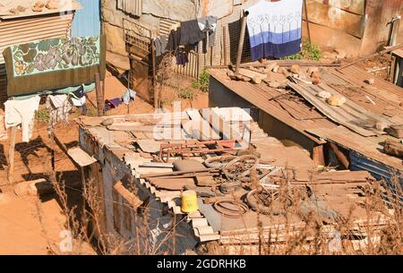
[{"label": "whole central shack with junk-covered roof and patched metal wall", "polygon": [[[76,161],[83,166],[84,186],[87,189],[91,185],[97,188],[103,232],[124,238],[129,250],[141,250],[134,253],[179,254],[189,250],[206,252],[205,247],[209,253],[257,253],[259,242],[262,242],[260,240],[270,240],[272,247],[282,247],[289,236],[310,230],[309,221],[304,220],[304,216],[313,211],[309,205],[310,199],[305,202],[297,200],[304,209],[301,213],[288,214],[287,225],[287,209],[278,209],[270,215],[259,213],[258,216],[257,211],[260,210],[251,209],[248,198],[244,199],[251,191],[245,185],[249,183],[250,186],[248,177],[252,176],[248,174],[252,171],[242,173],[242,179],[246,179],[243,185],[237,180],[241,176],[228,180],[228,177],[234,176],[223,176],[219,171],[223,168],[228,174],[233,174],[229,167],[231,163],[219,157],[223,155],[256,158],[251,169],[256,167],[257,174],[268,175],[271,186],[279,183],[274,185],[275,188],[280,187],[280,181],[284,181],[285,177],[289,182],[286,187],[292,191],[304,191],[305,184],[312,183],[314,196],[322,204],[318,217],[328,219],[326,223],[323,222],[326,237],[335,232],[332,224],[335,218],[349,215],[351,204],[356,204],[356,209],[351,214],[353,225],[348,232],[359,234],[360,240],[364,240],[368,231],[364,226],[368,223],[369,230],[375,234],[376,230],[382,228],[387,220],[385,215],[373,211],[377,220],[373,218],[367,221],[364,219],[365,209],[360,205],[364,198],[362,186],[373,181],[371,175],[367,172],[319,172],[303,149],[285,147],[262,132],[256,123],[250,122],[250,117],[242,119],[249,122],[245,126],[240,126],[239,118],[226,117],[225,113],[234,109],[242,111],[240,108],[209,108],[201,112],[193,109],[173,115],[82,117],[79,121],[80,147],[89,156],[76,158]],[[237,133],[242,135],[250,132],[247,135],[252,146],[239,146],[242,141],[220,142],[222,137],[218,135],[222,135],[220,131],[224,130],[208,122],[214,113],[221,113],[220,119],[231,124],[229,127],[234,132],[234,139],[240,140]],[[179,123],[174,123],[175,120]],[[203,133],[197,131],[200,128],[198,124],[204,124]],[[172,134],[166,134],[163,141],[155,140],[162,128],[173,129]],[[178,135],[185,137],[178,140]],[[214,141],[203,145],[200,139]],[[182,149],[177,145],[182,145],[179,146]],[[184,145],[188,145],[186,149]],[[206,152],[207,148],[212,152]],[[251,153],[260,155],[260,158]],[[83,158],[90,159],[83,162]],[[186,158],[195,160],[192,170],[177,173],[181,169],[178,162],[189,163],[188,160],[182,160]],[[215,167],[215,171],[196,172],[196,169],[201,170],[202,163]],[[195,169],[194,164],[199,168]],[[246,161],[244,164],[246,166]],[[262,179],[260,183],[268,181]],[[197,192],[199,208],[193,213],[182,211],[181,194],[184,189]],[[220,200],[229,200],[229,203],[220,207]],[[233,201],[236,202],[235,209]],[[237,206],[243,209],[238,210]],[[313,234],[308,235],[307,241],[313,238]],[[353,241],[359,244],[360,240]],[[210,249],[213,244],[218,246],[216,251]]]}]

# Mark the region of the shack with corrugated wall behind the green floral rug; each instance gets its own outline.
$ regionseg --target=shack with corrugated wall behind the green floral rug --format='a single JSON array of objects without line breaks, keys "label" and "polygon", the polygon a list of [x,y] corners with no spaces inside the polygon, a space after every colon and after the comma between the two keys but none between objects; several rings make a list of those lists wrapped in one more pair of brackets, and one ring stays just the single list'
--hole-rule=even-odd
[{"label": "shack with corrugated wall behind the green floral rug", "polygon": [[[63,6],[33,12],[35,2],[30,0],[0,1],[0,102],[7,100],[6,77],[3,51],[5,47],[18,45],[45,38],[70,36],[74,12],[81,9],[81,4],[64,1]],[[20,6],[23,9],[16,10]],[[25,9],[25,10],[24,10]]]}]

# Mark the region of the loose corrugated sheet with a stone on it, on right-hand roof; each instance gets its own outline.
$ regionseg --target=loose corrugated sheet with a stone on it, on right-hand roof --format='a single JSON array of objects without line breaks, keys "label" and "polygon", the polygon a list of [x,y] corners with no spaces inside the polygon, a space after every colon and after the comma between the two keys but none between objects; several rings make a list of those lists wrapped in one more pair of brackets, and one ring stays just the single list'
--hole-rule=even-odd
[{"label": "loose corrugated sheet with a stone on it, on right-hand roof", "polygon": [[313,107],[316,107],[323,115],[328,116],[332,121],[342,124],[363,136],[384,134],[385,132],[375,129],[374,124],[377,122],[389,124],[386,118],[381,115],[375,115],[367,111],[364,107],[359,107],[354,101],[347,97],[346,103],[341,107],[330,106],[324,98],[319,98],[316,95],[321,91],[327,91],[331,95],[340,95],[340,93],[330,88],[330,86],[325,83],[314,85],[303,82],[299,82],[298,84],[290,82],[288,85],[308,100]]}]

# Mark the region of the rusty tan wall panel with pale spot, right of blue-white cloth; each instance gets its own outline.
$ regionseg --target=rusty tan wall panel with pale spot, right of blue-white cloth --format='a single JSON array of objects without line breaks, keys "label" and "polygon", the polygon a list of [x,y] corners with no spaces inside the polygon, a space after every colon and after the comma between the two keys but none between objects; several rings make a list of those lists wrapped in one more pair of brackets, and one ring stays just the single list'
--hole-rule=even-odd
[{"label": "rusty tan wall panel with pale spot, right of blue-white cloth", "polygon": [[357,38],[364,35],[364,16],[348,13],[337,7],[320,4],[315,0],[306,0],[309,21],[326,26],[333,30],[341,30]]}]

